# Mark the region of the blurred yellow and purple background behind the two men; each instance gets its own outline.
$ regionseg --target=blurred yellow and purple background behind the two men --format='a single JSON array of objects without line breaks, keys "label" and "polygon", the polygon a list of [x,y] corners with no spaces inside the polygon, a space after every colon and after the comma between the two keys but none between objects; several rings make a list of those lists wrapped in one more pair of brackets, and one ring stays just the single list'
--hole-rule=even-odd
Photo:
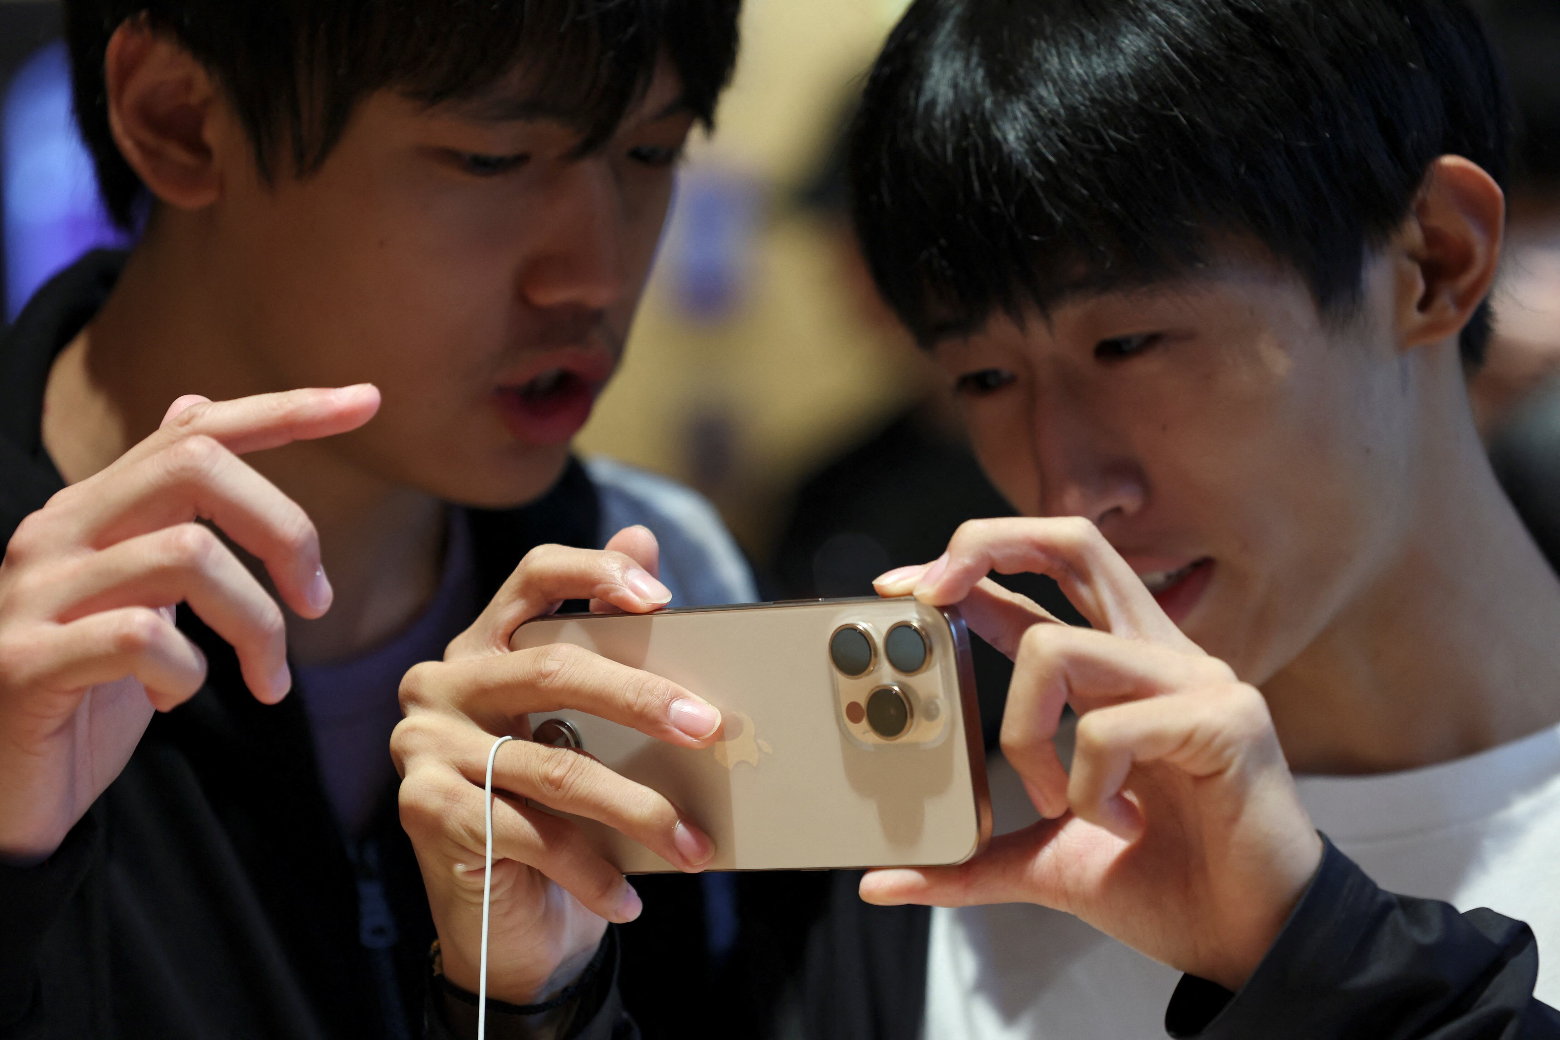
[{"label": "blurred yellow and purple background behind the two men", "polygon": [[[1006,511],[844,218],[838,139],[906,5],[747,0],[718,133],[693,142],[622,374],[580,437],[585,452],[713,499],[775,597],[869,593],[889,566],[936,557],[961,519]],[[1474,387],[1494,435],[1560,359],[1560,5],[1476,5],[1540,131],[1513,193],[1502,337]],[[83,249],[119,242],[72,126],[58,36],[56,3],[0,0],[0,320]]]}]

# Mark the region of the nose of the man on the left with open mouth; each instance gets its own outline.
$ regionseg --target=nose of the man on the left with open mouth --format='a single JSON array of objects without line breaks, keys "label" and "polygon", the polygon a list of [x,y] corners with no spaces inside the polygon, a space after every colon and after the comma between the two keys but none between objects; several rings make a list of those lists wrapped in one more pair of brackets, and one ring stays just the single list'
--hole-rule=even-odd
[{"label": "nose of the man on the left with open mouth", "polygon": [[605,310],[627,290],[627,220],[616,178],[599,159],[562,167],[537,206],[537,239],[519,273],[535,307]]}]

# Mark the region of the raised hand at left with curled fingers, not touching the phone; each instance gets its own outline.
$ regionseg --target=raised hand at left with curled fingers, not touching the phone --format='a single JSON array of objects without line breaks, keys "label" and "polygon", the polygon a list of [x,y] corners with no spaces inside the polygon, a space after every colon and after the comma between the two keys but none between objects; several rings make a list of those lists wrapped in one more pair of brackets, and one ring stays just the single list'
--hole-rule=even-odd
[{"label": "raised hand at left with curled fingers, not touching the phone", "polygon": [[58,848],[153,713],[201,688],[206,660],[173,627],[176,603],[232,644],[257,699],[287,694],[279,607],[200,521],[318,617],[331,585],[314,524],[239,455],[356,429],[378,409],[367,385],[179,398],[156,433],[22,521],[0,563],[0,858]]}]

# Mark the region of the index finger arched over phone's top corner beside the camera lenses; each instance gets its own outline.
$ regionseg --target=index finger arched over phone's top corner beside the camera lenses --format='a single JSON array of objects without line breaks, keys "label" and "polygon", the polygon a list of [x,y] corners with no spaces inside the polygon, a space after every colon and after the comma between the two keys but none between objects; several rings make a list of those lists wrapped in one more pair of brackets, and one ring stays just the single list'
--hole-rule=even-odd
[{"label": "index finger arched over phone's top corner beside the camera lenses", "polygon": [[955,532],[941,568],[916,586],[931,607],[961,602],[992,571],[1044,574],[1089,624],[1128,639],[1179,649],[1195,644],[1154,600],[1148,586],[1094,524],[1078,516],[969,521]]}]

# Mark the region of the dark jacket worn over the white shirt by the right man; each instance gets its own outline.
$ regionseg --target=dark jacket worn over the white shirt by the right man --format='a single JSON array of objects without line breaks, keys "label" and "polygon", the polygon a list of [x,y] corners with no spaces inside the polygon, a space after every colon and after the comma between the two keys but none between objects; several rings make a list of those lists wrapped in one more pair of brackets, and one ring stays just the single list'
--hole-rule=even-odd
[{"label": "dark jacket worn over the white shirt by the right man", "polygon": [[[931,911],[875,907],[841,875],[808,957],[810,1040],[919,1040]],[[1560,876],[1557,876],[1560,897]],[[1493,911],[1382,892],[1331,842],[1240,993],[1184,976],[1165,1031],[1187,1040],[1555,1040],[1533,999],[1538,943]],[[936,1040],[936,1037],[928,1037]]]}]

